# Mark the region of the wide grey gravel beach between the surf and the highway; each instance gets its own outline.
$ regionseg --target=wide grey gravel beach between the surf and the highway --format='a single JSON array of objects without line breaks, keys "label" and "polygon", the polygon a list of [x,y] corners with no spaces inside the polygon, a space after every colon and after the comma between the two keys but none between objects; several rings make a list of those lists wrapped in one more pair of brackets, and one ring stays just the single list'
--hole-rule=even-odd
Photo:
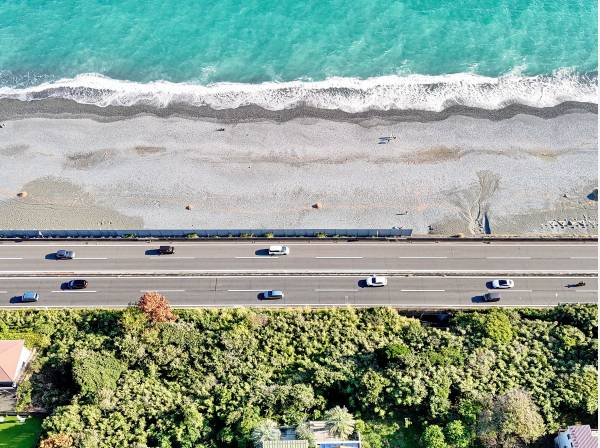
[{"label": "wide grey gravel beach between the surf and the highway", "polygon": [[597,233],[589,105],[234,119],[34,103],[0,105],[0,228]]}]

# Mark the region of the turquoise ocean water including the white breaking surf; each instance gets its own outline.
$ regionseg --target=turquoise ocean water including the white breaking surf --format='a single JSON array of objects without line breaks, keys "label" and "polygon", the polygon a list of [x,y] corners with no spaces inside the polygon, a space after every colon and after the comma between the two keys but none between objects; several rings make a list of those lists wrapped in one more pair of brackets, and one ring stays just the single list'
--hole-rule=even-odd
[{"label": "turquoise ocean water including the white breaking surf", "polygon": [[0,96],[350,111],[595,100],[593,0],[3,0]]}]

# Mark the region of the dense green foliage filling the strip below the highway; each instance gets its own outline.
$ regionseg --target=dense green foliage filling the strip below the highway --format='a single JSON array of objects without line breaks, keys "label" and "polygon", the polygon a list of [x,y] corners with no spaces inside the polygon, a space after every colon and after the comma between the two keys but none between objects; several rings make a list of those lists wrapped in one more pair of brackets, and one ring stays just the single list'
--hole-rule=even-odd
[{"label": "dense green foliage filling the strip below the highway", "polygon": [[0,312],[2,333],[38,335],[20,406],[51,412],[44,446],[249,447],[320,419],[366,448],[506,447],[597,418],[595,306],[448,329],[385,308],[176,314]]}]

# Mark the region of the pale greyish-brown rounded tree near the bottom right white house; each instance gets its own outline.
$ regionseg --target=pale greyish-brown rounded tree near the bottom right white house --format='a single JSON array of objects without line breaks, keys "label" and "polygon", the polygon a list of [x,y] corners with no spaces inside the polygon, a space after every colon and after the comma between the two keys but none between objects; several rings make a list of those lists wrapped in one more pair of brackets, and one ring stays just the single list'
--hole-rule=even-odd
[{"label": "pale greyish-brown rounded tree near the bottom right white house", "polygon": [[477,429],[484,446],[515,448],[539,439],[544,421],[529,393],[513,389],[488,403]]}]

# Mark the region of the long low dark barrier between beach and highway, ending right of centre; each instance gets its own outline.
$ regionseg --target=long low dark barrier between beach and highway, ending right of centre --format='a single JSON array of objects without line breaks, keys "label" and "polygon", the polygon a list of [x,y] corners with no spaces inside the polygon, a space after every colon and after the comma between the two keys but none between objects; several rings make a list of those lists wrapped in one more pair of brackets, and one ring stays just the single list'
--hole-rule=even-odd
[{"label": "long low dark barrier between beach and highway, ending right of centre", "polygon": [[0,238],[389,238],[409,237],[412,229],[135,229],[0,230]]}]

